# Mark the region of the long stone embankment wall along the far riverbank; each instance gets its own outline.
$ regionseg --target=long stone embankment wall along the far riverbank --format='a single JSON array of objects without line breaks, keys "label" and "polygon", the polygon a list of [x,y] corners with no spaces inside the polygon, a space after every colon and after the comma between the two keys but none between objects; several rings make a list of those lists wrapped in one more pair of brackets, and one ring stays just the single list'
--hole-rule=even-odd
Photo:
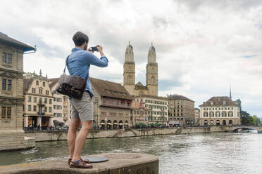
[{"label": "long stone embankment wall along the far riverbank", "polygon": [[[188,133],[225,132],[226,126],[183,127],[183,128],[148,128],[128,130],[92,130],[87,138],[127,138],[146,135],[177,135]],[[25,135],[35,138],[36,142],[67,140],[67,131],[27,131]]]}]

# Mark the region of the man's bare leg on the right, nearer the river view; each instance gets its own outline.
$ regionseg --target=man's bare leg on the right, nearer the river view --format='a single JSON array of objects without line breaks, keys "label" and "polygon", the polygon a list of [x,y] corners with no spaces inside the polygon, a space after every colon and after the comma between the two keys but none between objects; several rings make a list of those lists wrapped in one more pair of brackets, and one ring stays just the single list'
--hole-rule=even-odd
[{"label": "man's bare leg on the right, nearer the river view", "polygon": [[92,126],[93,126],[93,121],[82,121],[82,128],[75,140],[75,151],[72,161],[77,161],[80,159],[80,154],[85,145],[85,140],[87,139],[87,135],[91,131]]}]

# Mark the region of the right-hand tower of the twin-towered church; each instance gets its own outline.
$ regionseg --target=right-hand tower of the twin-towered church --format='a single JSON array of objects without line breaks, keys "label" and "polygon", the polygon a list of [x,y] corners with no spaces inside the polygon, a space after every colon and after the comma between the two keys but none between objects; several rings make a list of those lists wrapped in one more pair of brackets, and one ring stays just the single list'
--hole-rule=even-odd
[{"label": "right-hand tower of the twin-towered church", "polygon": [[149,95],[158,96],[158,65],[156,62],[156,50],[153,44],[149,47],[147,55],[146,87],[149,89]]}]

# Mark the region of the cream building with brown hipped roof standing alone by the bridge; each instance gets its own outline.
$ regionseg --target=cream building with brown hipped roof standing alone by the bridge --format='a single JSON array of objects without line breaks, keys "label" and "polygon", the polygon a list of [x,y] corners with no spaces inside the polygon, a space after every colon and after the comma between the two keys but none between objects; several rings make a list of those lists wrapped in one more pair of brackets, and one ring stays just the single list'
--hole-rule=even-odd
[{"label": "cream building with brown hipped roof standing alone by the bridge", "polygon": [[240,125],[240,109],[227,96],[212,97],[200,107],[201,126]]}]

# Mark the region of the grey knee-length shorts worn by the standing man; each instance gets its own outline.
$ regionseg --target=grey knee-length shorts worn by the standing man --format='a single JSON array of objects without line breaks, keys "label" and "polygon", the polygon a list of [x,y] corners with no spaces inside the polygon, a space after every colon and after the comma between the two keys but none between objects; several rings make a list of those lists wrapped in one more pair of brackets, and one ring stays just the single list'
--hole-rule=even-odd
[{"label": "grey knee-length shorts worn by the standing man", "polygon": [[70,104],[72,105],[71,118],[79,118],[80,121],[93,120],[93,102],[87,91],[83,93],[81,100],[70,98]]}]

